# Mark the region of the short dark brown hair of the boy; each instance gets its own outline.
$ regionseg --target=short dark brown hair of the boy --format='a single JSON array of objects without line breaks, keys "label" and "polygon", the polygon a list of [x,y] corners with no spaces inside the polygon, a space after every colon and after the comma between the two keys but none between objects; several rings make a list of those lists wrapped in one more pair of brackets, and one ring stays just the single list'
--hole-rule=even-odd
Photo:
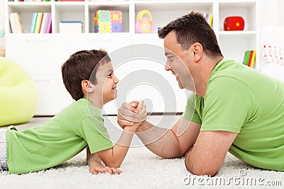
[{"label": "short dark brown hair of the boy", "polygon": [[81,50],[71,55],[62,65],[63,83],[75,101],[84,97],[82,81],[87,79],[92,84],[97,84],[97,69],[107,62],[111,62],[111,59],[104,50]]}]

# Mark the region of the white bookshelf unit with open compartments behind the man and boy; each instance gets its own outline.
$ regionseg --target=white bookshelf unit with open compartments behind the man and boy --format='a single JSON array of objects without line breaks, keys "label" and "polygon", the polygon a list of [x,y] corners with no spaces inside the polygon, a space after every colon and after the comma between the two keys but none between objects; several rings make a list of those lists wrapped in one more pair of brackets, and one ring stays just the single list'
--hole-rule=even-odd
[{"label": "white bookshelf unit with open compartments behind the man and boy", "polygon": [[[94,13],[99,9],[122,11],[122,33],[94,33]],[[256,50],[255,67],[258,69],[258,1],[257,0],[154,0],[154,1],[43,1],[43,2],[13,2],[6,1],[6,57],[21,64],[35,81],[38,87],[39,104],[36,115],[55,115],[72,101],[69,93],[62,84],[60,67],[65,60],[78,50],[104,49],[110,54],[122,47],[137,44],[157,45],[163,53],[163,40],[157,33],[136,33],[136,16],[141,10],[148,10],[153,17],[155,31],[160,25],[189,13],[200,11],[213,13],[213,29],[219,40],[224,57],[233,57],[239,62],[244,59],[246,50]],[[23,34],[11,33],[9,13],[21,15]],[[48,12],[52,15],[52,33],[29,33],[31,18],[34,12]],[[227,16],[241,16],[245,21],[245,28],[241,31],[224,31],[224,19]],[[59,33],[60,21],[82,21],[83,33]],[[160,53],[157,52],[157,53]],[[124,56],[124,55],[121,55]],[[157,55],[160,56],[160,55]],[[114,59],[113,59],[114,60]],[[165,59],[164,59],[165,61]],[[124,82],[124,77],[133,71],[155,71],[162,76],[174,91],[176,107],[165,109],[167,99],[163,99],[165,91],[141,84],[133,87],[127,101],[137,97],[148,98],[155,113],[182,112],[185,108],[187,92],[180,90],[175,78],[165,71],[163,64],[151,62],[149,59],[130,61],[114,68],[116,76]],[[134,84],[133,84],[134,85]],[[119,93],[121,93],[119,91]],[[116,114],[117,104],[108,103],[104,111],[106,114]]]}]

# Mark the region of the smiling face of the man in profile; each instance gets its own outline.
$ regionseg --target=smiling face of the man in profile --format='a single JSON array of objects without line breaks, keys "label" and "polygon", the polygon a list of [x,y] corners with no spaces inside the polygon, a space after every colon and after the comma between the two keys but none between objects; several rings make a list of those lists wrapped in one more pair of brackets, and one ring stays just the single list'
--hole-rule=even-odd
[{"label": "smiling face of the man in profile", "polygon": [[180,88],[186,88],[190,91],[194,90],[194,88],[191,87],[193,82],[189,70],[189,50],[182,50],[173,31],[165,36],[164,47],[165,57],[167,57],[165,70],[172,71],[173,75],[176,76]]}]

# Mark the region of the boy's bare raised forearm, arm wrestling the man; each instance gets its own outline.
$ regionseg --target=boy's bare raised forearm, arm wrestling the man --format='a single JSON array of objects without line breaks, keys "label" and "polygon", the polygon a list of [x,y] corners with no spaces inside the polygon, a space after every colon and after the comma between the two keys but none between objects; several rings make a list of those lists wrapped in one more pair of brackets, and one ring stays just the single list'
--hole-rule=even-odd
[{"label": "boy's bare raised forearm, arm wrestling the man", "polygon": [[[143,102],[140,101],[137,108],[138,113],[143,112],[143,109]],[[146,117],[146,112],[144,114]],[[116,144],[114,144],[114,147],[97,152],[99,158],[104,161],[106,166],[118,168],[121,165],[122,161],[124,161],[127,151],[129,150],[133,134],[135,133],[137,127],[138,124],[134,124],[131,127],[124,127],[124,131],[122,132],[121,137]]]}]

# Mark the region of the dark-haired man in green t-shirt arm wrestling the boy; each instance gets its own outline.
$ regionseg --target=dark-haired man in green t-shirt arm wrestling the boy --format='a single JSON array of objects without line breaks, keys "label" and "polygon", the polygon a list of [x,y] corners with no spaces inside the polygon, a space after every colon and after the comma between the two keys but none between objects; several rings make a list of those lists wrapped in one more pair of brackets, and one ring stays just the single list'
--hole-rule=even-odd
[{"label": "dark-haired man in green t-shirt arm wrestling the boy", "polygon": [[[214,176],[227,151],[251,166],[284,171],[283,82],[225,59],[201,13],[171,21],[158,35],[165,70],[194,93],[171,130],[141,123],[136,134],[146,147],[163,158],[185,156],[187,170],[197,175]],[[137,121],[136,105],[119,108],[121,127]]]}]

